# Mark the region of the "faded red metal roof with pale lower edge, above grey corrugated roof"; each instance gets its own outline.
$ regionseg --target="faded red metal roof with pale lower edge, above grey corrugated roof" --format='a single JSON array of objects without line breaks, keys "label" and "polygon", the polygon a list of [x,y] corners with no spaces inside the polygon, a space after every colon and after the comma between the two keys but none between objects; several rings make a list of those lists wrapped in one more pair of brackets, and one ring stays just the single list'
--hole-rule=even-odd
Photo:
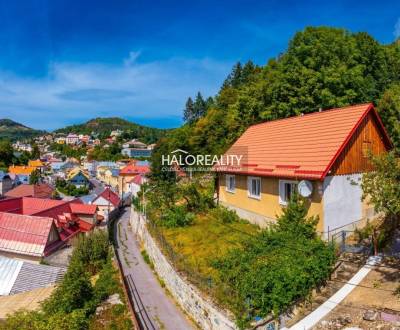
[{"label": "faded red metal roof with pale lower edge, above grey corrugated roof", "polygon": [[53,219],[0,212],[0,250],[43,256]]}]

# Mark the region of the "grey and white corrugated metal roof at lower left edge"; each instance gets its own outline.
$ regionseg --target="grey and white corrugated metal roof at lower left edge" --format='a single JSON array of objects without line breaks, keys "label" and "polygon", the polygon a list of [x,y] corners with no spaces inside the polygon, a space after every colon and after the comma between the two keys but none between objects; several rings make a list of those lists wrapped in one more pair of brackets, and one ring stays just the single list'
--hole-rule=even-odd
[{"label": "grey and white corrugated metal roof at lower left edge", "polygon": [[66,269],[0,256],[0,295],[12,295],[59,282]]}]

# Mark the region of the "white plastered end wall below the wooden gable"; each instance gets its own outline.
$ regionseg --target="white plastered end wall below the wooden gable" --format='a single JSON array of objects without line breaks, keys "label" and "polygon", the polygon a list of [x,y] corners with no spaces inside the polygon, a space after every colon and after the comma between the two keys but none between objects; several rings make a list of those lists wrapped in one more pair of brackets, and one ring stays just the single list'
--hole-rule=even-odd
[{"label": "white plastered end wall below the wooden gable", "polygon": [[[328,176],[324,180],[324,231],[362,218],[362,174]],[[357,183],[357,184],[354,184]]]}]

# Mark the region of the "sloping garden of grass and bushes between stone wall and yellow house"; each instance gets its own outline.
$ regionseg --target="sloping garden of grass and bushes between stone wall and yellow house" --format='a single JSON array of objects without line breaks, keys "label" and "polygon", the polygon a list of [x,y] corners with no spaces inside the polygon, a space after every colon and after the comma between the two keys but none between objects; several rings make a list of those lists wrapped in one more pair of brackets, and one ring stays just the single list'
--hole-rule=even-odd
[{"label": "sloping garden of grass and bushes between stone wall and yellow house", "polygon": [[215,205],[212,191],[204,177],[159,182],[148,194],[149,230],[174,267],[240,328],[278,317],[329,278],[335,250],[317,236],[305,201],[295,198],[276,225],[261,230]]}]

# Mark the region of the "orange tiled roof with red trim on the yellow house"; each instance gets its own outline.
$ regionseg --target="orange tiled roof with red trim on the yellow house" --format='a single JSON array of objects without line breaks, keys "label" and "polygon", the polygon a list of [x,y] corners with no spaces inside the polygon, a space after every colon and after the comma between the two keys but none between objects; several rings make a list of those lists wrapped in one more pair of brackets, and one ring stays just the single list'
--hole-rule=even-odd
[{"label": "orange tiled roof with red trim on the yellow house", "polygon": [[249,127],[225,155],[243,155],[239,167],[217,171],[256,176],[323,179],[362,120],[372,112],[391,146],[372,104],[269,121]]}]

